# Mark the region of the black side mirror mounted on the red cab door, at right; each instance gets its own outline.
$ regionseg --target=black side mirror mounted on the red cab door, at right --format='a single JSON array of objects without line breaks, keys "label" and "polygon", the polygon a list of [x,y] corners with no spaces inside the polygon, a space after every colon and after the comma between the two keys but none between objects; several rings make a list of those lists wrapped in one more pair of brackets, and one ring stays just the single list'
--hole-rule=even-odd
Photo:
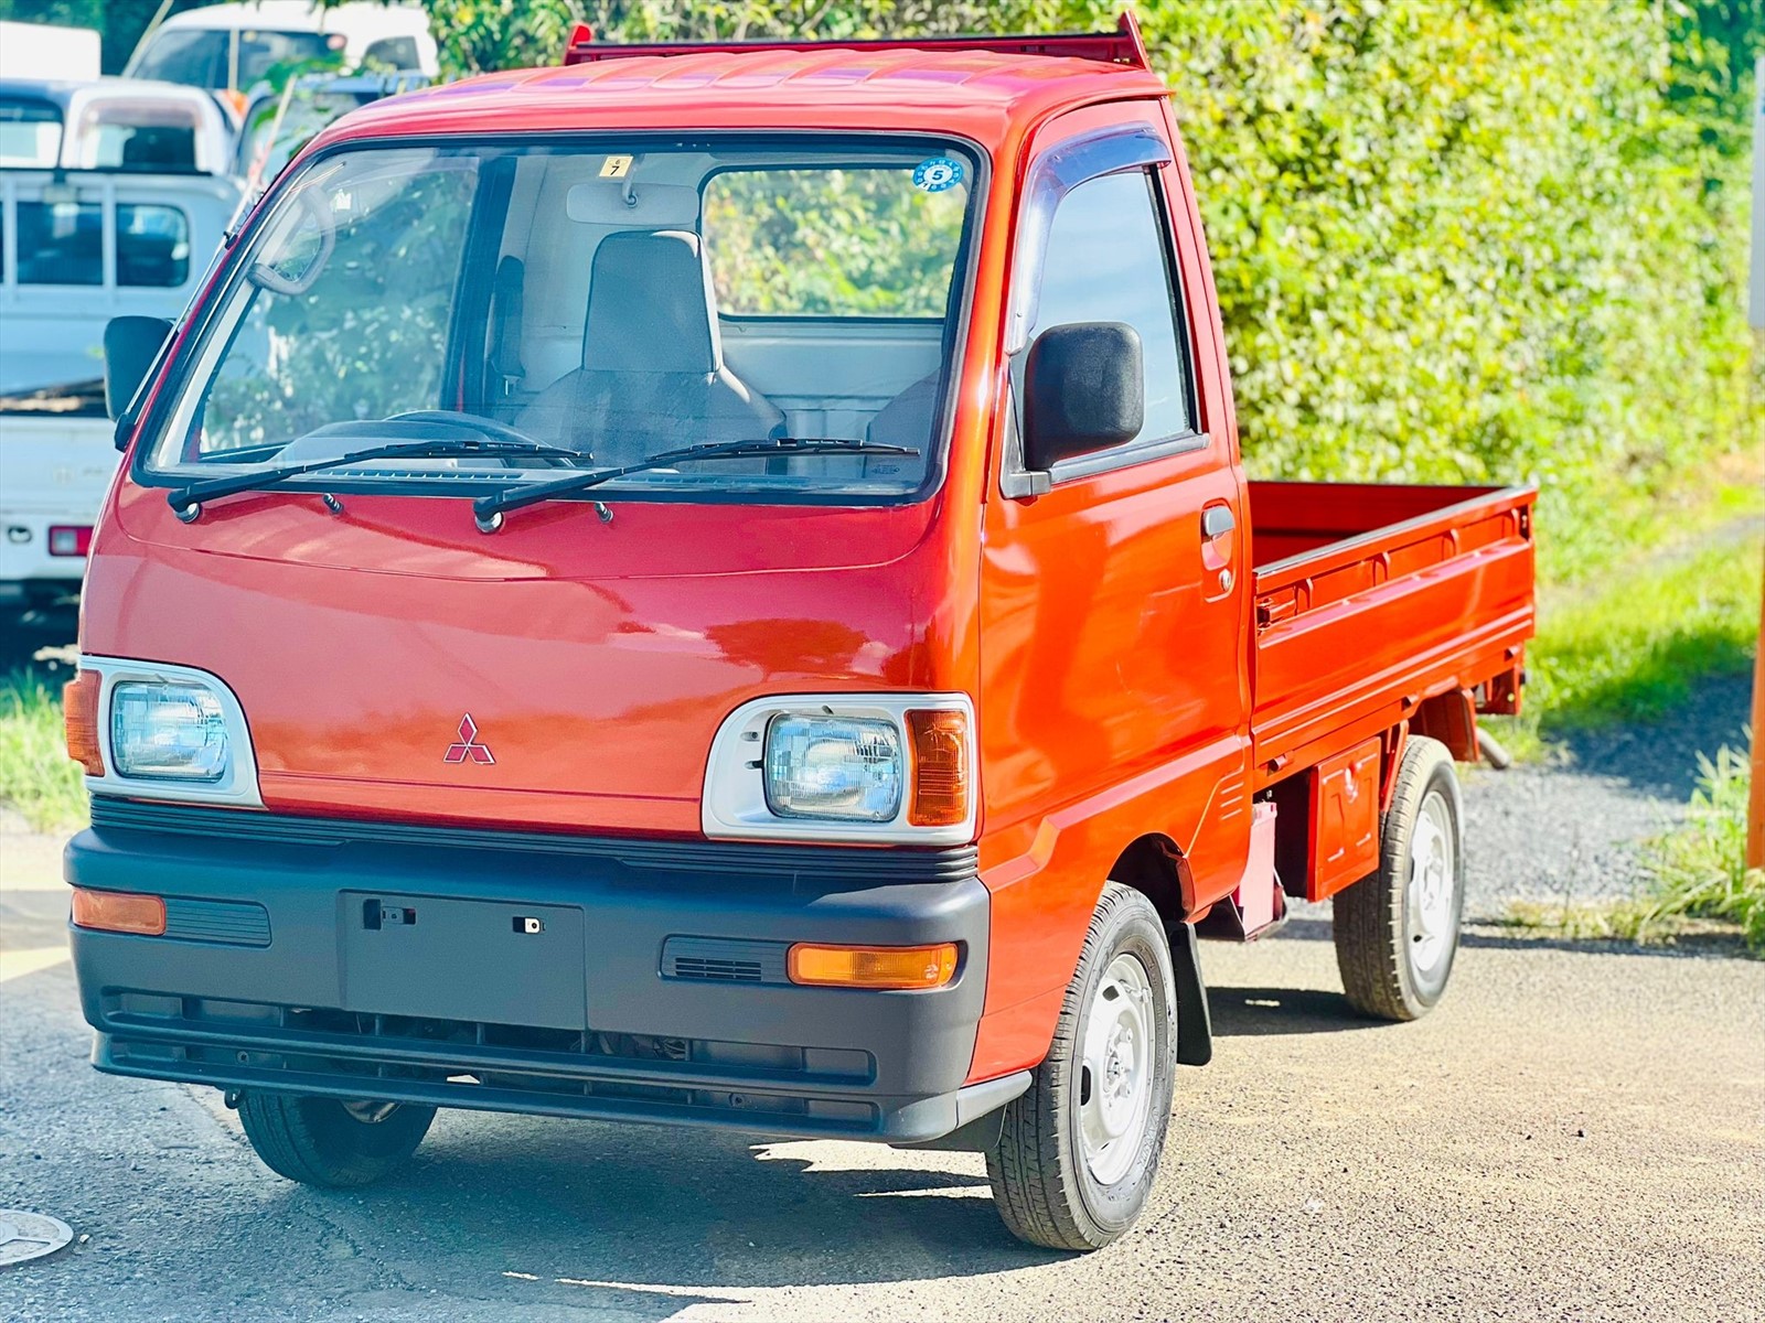
[{"label": "black side mirror mounted on the red cab door, at right", "polygon": [[1121,321],[1048,326],[1024,363],[1024,467],[1133,441],[1145,425],[1140,333]]}]

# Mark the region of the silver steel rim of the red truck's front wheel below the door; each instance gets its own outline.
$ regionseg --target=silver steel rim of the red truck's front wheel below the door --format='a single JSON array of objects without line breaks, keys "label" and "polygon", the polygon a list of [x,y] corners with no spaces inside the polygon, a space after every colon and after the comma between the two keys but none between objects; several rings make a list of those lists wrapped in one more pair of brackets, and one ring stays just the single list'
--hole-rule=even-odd
[{"label": "silver steel rim of the red truck's front wheel below the door", "polygon": [[1153,983],[1137,956],[1103,970],[1085,1011],[1078,1080],[1078,1143],[1101,1185],[1133,1166],[1153,1104]]}]

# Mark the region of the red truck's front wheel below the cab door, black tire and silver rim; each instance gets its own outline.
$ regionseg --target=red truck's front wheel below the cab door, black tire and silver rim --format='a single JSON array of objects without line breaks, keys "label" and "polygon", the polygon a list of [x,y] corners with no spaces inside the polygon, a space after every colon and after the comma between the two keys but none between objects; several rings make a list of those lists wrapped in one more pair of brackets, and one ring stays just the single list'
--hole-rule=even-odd
[{"label": "red truck's front wheel below the cab door, black tire and silver rim", "polygon": [[[1128,1037],[1114,1037],[1114,1030]],[[1145,896],[1110,882],[1091,917],[1048,1055],[1029,1090],[1006,1104],[1003,1138],[987,1154],[994,1203],[1011,1235],[1048,1249],[1093,1251],[1133,1226],[1165,1148],[1175,1060],[1175,977],[1165,924]],[[1126,1092],[1112,1094],[1105,1106],[1094,1081],[1117,1067],[1126,1067],[1114,1076],[1128,1081]],[[1117,1138],[1100,1145],[1108,1124]]]}]

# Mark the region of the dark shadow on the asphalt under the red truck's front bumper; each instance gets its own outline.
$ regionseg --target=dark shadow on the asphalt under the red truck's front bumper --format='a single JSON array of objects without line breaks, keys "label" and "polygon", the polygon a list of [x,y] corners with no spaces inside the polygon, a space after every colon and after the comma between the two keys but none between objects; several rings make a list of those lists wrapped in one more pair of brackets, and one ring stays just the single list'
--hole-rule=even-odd
[{"label": "dark shadow on the asphalt under the red truck's front bumper", "polygon": [[441,1113],[401,1178],[288,1198],[312,1201],[404,1281],[595,1318],[664,1319],[732,1304],[725,1293],[741,1288],[967,1277],[1064,1258],[1011,1238],[976,1154],[542,1117]]}]

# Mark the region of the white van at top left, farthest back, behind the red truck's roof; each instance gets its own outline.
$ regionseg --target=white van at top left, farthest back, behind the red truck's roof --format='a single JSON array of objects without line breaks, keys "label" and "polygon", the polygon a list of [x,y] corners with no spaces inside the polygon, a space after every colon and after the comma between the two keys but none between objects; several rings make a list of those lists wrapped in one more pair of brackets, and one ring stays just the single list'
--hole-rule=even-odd
[{"label": "white van at top left, farthest back, behind the red truck's roof", "polygon": [[409,4],[323,5],[307,0],[205,5],[173,14],[141,37],[125,78],[229,93],[242,111],[245,97],[270,81],[272,71],[330,60],[341,72],[362,65],[436,74],[436,42],[429,16]]}]

